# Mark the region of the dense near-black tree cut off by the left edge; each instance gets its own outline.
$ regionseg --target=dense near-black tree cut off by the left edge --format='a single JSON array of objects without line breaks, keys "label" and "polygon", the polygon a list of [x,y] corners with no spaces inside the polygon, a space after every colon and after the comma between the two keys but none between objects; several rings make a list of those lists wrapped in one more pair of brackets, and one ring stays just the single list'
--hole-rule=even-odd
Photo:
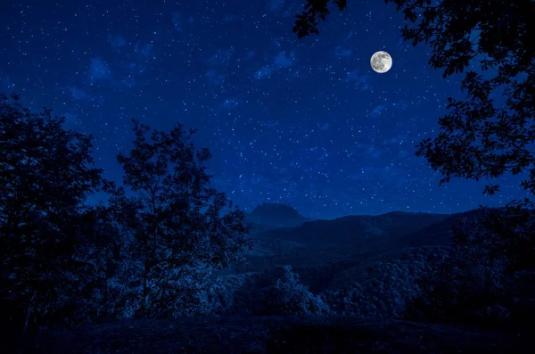
[{"label": "dense near-black tree cut off by the left edge", "polygon": [[101,181],[92,136],[65,130],[64,118],[0,94],[0,264],[10,326],[24,328],[79,292],[83,202]]}]

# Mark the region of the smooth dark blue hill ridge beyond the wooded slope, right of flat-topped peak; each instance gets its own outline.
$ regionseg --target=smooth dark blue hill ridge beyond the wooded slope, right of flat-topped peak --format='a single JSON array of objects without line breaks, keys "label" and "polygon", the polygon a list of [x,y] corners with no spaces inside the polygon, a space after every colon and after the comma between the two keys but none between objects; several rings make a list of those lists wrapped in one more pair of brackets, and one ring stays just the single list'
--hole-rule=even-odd
[{"label": "smooth dark blue hill ridge beyond the wooded slope, right of flat-topped peak", "polygon": [[251,260],[249,270],[282,265],[310,267],[328,261],[360,262],[407,248],[449,248],[453,241],[452,226],[461,218],[480,214],[481,210],[457,214],[394,211],[257,229],[251,235],[255,248],[247,254]]}]

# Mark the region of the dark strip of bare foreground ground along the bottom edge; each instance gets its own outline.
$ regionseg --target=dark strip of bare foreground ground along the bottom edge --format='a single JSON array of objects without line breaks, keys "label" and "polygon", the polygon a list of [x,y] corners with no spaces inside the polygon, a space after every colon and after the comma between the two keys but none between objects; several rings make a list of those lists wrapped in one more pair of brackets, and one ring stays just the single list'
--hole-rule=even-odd
[{"label": "dark strip of bare foreground ground along the bottom edge", "polygon": [[532,353],[528,333],[339,317],[143,320],[39,333],[19,353]]}]

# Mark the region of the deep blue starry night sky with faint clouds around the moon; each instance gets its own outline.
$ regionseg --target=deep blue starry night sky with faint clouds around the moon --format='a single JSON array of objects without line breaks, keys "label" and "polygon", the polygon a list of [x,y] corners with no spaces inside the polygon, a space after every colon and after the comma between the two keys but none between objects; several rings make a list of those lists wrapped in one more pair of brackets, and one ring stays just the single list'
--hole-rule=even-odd
[{"label": "deep blue starry night sky with faint clouds around the moon", "polygon": [[[3,3],[0,92],[93,134],[95,161],[117,180],[131,119],[198,128],[213,154],[212,184],[251,211],[282,202],[311,218],[393,210],[453,213],[525,196],[520,177],[440,175],[416,144],[439,131],[460,79],[441,78],[430,49],[404,42],[395,5],[353,0],[298,39],[304,0]],[[374,52],[393,58],[375,73]],[[96,198],[96,197],[95,197]]]}]

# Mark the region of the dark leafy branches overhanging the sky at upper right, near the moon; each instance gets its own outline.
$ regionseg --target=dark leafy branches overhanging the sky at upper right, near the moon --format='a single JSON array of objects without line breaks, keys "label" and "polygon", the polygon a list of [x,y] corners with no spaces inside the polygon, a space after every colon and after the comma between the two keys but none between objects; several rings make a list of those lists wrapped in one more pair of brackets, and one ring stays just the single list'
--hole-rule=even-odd
[{"label": "dark leafy branches overhanging the sky at upper right, near the moon", "polygon": [[[318,34],[330,0],[307,0],[293,31],[298,37]],[[333,1],[342,11],[345,0]],[[432,47],[433,69],[446,78],[462,73],[465,100],[449,98],[449,113],[439,119],[440,134],[416,146],[440,185],[451,177],[500,177],[526,174],[522,187],[535,194],[535,2],[531,0],[385,0],[412,22],[401,30],[413,45]],[[481,73],[473,70],[478,64]],[[488,78],[492,76],[492,78]],[[503,89],[503,93],[500,90]],[[496,103],[491,94],[502,95]],[[498,191],[485,186],[484,193]]]}]

